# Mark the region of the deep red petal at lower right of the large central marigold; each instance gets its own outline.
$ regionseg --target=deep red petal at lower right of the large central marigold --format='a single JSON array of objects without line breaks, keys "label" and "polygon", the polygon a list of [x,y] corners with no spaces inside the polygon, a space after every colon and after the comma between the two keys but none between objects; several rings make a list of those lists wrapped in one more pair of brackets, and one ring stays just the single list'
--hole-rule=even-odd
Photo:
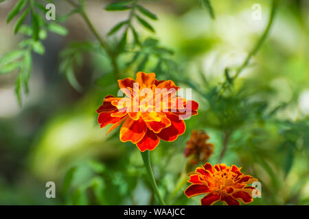
[{"label": "deep red petal at lower right of the large central marigold", "polygon": [[171,121],[170,127],[162,129],[157,136],[167,142],[172,142],[185,132],[185,122],[179,119],[175,114],[166,114],[167,118]]}]

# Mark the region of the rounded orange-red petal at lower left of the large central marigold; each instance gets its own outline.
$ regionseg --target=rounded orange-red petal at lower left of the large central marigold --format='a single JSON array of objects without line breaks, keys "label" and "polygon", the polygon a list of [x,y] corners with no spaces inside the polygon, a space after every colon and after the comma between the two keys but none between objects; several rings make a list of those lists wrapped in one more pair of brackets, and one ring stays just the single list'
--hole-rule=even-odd
[{"label": "rounded orange-red petal at lower left of the large central marigold", "polygon": [[122,142],[130,141],[133,144],[136,144],[144,137],[146,130],[147,127],[144,120],[139,119],[135,121],[128,117],[120,129],[120,140]]}]

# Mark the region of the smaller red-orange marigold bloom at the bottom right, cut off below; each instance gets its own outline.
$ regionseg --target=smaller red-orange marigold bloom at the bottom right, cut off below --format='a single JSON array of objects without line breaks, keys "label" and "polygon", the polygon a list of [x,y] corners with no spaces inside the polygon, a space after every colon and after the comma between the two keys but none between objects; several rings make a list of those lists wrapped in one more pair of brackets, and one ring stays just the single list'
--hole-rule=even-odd
[{"label": "smaller red-orange marigold bloom at the bottom right, cut off below", "polygon": [[206,163],[196,168],[194,174],[190,175],[188,182],[192,183],[185,189],[185,195],[190,198],[198,194],[207,194],[201,199],[202,205],[212,205],[216,201],[225,202],[227,205],[240,205],[253,201],[252,191],[256,188],[247,186],[258,179],[249,175],[243,175],[235,165]]}]

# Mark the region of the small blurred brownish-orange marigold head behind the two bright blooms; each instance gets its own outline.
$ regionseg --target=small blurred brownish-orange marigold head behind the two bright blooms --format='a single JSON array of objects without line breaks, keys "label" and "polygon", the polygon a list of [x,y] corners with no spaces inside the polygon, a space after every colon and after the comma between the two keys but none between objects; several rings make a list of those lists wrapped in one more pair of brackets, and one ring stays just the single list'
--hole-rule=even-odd
[{"label": "small blurred brownish-orange marigold head behind the two bright blooms", "polygon": [[187,146],[183,151],[185,157],[193,155],[192,164],[206,162],[214,153],[214,144],[208,143],[207,140],[209,140],[209,136],[205,131],[192,131],[191,138],[187,141]]}]

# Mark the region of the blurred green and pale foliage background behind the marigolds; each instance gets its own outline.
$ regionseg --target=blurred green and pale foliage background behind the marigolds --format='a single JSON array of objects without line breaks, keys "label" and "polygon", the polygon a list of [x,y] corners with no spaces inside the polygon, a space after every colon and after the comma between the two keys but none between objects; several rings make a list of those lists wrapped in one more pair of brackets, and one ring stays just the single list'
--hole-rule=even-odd
[{"label": "blurred green and pale foliage background behind the marigolds", "polygon": [[[0,3],[0,57],[24,38],[14,35],[14,22],[6,23],[15,2]],[[106,34],[129,12],[106,11],[108,3],[91,0],[86,7],[95,29],[113,44],[121,36]],[[159,79],[194,88],[192,99],[200,103],[198,115],[185,121],[183,136],[161,141],[151,153],[164,199],[172,205],[200,204],[201,197],[183,194],[187,184],[174,191],[187,162],[186,142],[198,129],[214,144],[211,164],[218,162],[227,140],[221,162],[242,166],[242,172],[262,183],[262,198],[250,205],[309,205],[309,2],[282,1],[260,51],[222,95],[218,92],[227,80],[225,69],[238,68],[262,35],[271,1],[212,1],[215,20],[198,1],[139,3],[159,18],[150,21],[155,33],[136,24],[141,40],[172,51],[168,58],[174,68],[158,68],[157,57],[143,63],[142,55],[126,65],[134,55],[122,53],[119,77],[155,71]],[[252,18],[254,3],[262,6],[260,20]],[[72,9],[66,1],[55,5],[57,16]],[[156,204],[136,146],[120,142],[118,129],[106,137],[107,128],[97,123],[95,110],[104,96],[118,90],[106,53],[77,49],[74,74],[82,89],[76,91],[59,71],[61,51],[72,42],[96,40],[79,14],[62,26],[66,36],[49,32],[44,54],[32,53],[30,92],[21,95],[21,106],[14,94],[17,72],[0,75],[0,204]],[[47,181],[56,183],[56,198],[46,198]]]}]

